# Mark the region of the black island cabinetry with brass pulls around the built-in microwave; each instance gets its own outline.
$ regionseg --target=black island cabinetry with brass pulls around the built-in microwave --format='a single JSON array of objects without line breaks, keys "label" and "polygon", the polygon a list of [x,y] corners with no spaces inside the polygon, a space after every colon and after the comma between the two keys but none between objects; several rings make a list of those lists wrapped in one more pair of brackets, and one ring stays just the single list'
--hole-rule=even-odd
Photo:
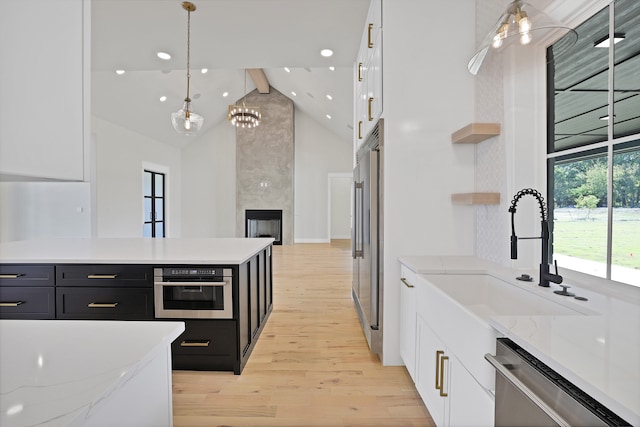
[{"label": "black island cabinetry with brass pulls around the built-in microwave", "polygon": [[[263,243],[238,263],[0,263],[0,318],[180,320],[173,369],[240,374],[273,306],[271,249]],[[164,281],[165,273],[193,271],[208,274],[208,283]],[[209,316],[218,302],[203,307],[196,294],[231,309]]]}]

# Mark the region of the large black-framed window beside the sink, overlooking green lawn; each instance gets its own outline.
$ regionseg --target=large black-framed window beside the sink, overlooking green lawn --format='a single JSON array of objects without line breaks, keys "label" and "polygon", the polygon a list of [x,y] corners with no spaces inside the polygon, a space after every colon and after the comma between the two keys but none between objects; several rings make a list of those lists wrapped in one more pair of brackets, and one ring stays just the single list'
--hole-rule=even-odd
[{"label": "large black-framed window beside the sink, overlooking green lawn", "polygon": [[547,49],[553,259],[640,286],[640,2],[614,0],[576,32]]}]

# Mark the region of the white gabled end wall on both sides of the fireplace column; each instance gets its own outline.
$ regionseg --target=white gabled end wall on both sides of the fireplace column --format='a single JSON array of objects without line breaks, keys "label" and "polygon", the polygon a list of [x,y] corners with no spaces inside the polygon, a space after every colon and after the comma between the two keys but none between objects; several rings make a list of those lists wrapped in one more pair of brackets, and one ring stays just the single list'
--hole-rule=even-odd
[{"label": "white gabled end wall on both sides of the fireplace column", "polygon": [[[235,236],[235,129],[226,121],[182,150],[183,237]],[[352,170],[349,141],[295,111],[295,242],[327,242],[328,175]]]}]

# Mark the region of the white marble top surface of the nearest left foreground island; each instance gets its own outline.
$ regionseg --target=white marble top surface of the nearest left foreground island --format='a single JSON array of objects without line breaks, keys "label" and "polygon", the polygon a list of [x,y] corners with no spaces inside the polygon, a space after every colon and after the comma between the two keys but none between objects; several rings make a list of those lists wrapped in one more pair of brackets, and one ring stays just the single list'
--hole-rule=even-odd
[{"label": "white marble top surface of the nearest left foreground island", "polygon": [[74,425],[183,331],[183,322],[0,320],[0,425]]}]

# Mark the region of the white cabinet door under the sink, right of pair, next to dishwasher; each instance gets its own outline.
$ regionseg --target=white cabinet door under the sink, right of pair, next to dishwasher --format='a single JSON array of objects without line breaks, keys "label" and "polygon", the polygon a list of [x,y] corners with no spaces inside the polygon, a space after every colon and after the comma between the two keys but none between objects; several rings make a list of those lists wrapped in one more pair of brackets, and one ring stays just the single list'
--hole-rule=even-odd
[{"label": "white cabinet door under the sink, right of pair, next to dishwasher", "polygon": [[478,384],[460,361],[449,355],[448,425],[489,427],[494,425],[494,399]]}]

